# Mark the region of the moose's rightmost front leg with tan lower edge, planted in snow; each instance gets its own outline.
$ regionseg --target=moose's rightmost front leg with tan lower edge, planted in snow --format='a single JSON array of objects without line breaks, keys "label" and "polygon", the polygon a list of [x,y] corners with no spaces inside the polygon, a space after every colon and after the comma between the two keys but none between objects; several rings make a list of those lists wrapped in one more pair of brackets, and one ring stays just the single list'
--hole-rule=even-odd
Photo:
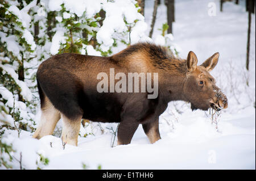
[{"label": "moose's rightmost front leg with tan lower edge, planted in snow", "polygon": [[144,132],[146,133],[148,139],[150,140],[151,144],[161,139],[159,133],[159,119],[152,120],[148,123],[142,124]]}]

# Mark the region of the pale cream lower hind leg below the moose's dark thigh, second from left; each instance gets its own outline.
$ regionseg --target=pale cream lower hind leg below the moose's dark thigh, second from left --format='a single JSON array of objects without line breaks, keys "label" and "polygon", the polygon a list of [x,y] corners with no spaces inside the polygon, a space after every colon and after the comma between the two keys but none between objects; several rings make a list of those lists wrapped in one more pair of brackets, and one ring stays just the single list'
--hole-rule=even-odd
[{"label": "pale cream lower hind leg below the moose's dark thigh, second from left", "polygon": [[77,137],[79,136],[82,116],[77,117],[75,120],[71,120],[62,113],[60,115],[63,120],[63,128],[61,134],[63,144],[77,146]]}]

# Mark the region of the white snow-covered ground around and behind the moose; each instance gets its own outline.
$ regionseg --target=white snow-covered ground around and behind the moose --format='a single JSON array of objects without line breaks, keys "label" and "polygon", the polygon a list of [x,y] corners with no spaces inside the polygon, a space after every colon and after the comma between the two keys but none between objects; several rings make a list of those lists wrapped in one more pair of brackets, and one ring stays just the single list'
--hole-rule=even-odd
[{"label": "white snow-covered ground around and behind the moose", "polygon": [[[216,5],[216,16],[209,16],[209,2]],[[162,140],[150,144],[141,126],[129,145],[111,147],[113,134],[102,134],[98,123],[86,130],[94,135],[79,137],[78,146],[63,145],[58,137],[46,136],[40,140],[22,131],[8,131],[6,138],[13,148],[22,152],[22,165],[36,169],[37,151],[49,158],[44,169],[255,169],[255,15],[252,16],[250,71],[245,70],[247,13],[245,1],[240,5],[224,3],[219,11],[217,0],[175,1],[174,41],[180,57],[186,58],[193,50],[199,64],[220,52],[220,60],[212,71],[217,85],[228,96],[229,107],[212,123],[209,112],[191,111],[184,102],[169,103],[160,116]],[[146,22],[154,1],[146,1]],[[166,7],[160,5],[153,39],[158,28],[166,23]],[[148,26],[150,27],[150,26]],[[148,32],[149,32],[148,28]],[[246,85],[249,82],[249,86]],[[117,124],[100,124],[115,131]],[[114,145],[116,145],[115,138]],[[1,168],[0,168],[1,169]],[[14,166],[19,169],[19,164]]]}]

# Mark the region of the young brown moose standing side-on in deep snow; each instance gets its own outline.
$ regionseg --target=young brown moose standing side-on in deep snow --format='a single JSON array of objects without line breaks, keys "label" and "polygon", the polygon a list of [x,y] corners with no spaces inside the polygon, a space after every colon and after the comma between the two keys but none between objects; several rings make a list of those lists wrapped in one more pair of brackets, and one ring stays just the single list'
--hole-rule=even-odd
[{"label": "young brown moose standing side-on in deep snow", "polygon": [[[132,45],[110,57],[57,54],[44,61],[38,69],[41,108],[44,110],[49,100],[64,117],[66,126],[62,138],[69,144],[77,145],[76,135],[81,118],[119,122],[118,144],[129,144],[138,125],[142,124],[150,142],[154,143],[160,139],[159,115],[172,100],[191,102],[192,110],[227,107],[226,96],[208,73],[217,61],[218,53],[215,53],[204,64],[197,66],[197,57],[193,52],[189,52],[187,60],[180,60],[168,55],[166,49],[150,43]],[[114,68],[115,73],[126,75],[158,73],[158,98],[147,99],[147,92],[97,92],[97,74],[105,72],[109,75],[110,68]],[[45,120],[38,130],[51,124],[51,121]],[[38,130],[34,137],[44,136]]]}]

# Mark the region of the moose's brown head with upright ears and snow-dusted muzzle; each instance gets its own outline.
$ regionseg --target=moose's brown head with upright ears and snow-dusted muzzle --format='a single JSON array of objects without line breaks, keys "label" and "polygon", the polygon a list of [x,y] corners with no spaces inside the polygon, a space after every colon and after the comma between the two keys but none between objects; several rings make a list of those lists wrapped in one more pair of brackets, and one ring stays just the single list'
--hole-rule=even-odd
[{"label": "moose's brown head with upright ears and snow-dusted muzzle", "polygon": [[183,86],[185,98],[191,102],[191,109],[220,111],[228,107],[228,99],[216,86],[216,81],[209,74],[217,65],[219,53],[214,53],[203,64],[197,66],[196,54],[192,51],[187,57],[187,73]]}]

